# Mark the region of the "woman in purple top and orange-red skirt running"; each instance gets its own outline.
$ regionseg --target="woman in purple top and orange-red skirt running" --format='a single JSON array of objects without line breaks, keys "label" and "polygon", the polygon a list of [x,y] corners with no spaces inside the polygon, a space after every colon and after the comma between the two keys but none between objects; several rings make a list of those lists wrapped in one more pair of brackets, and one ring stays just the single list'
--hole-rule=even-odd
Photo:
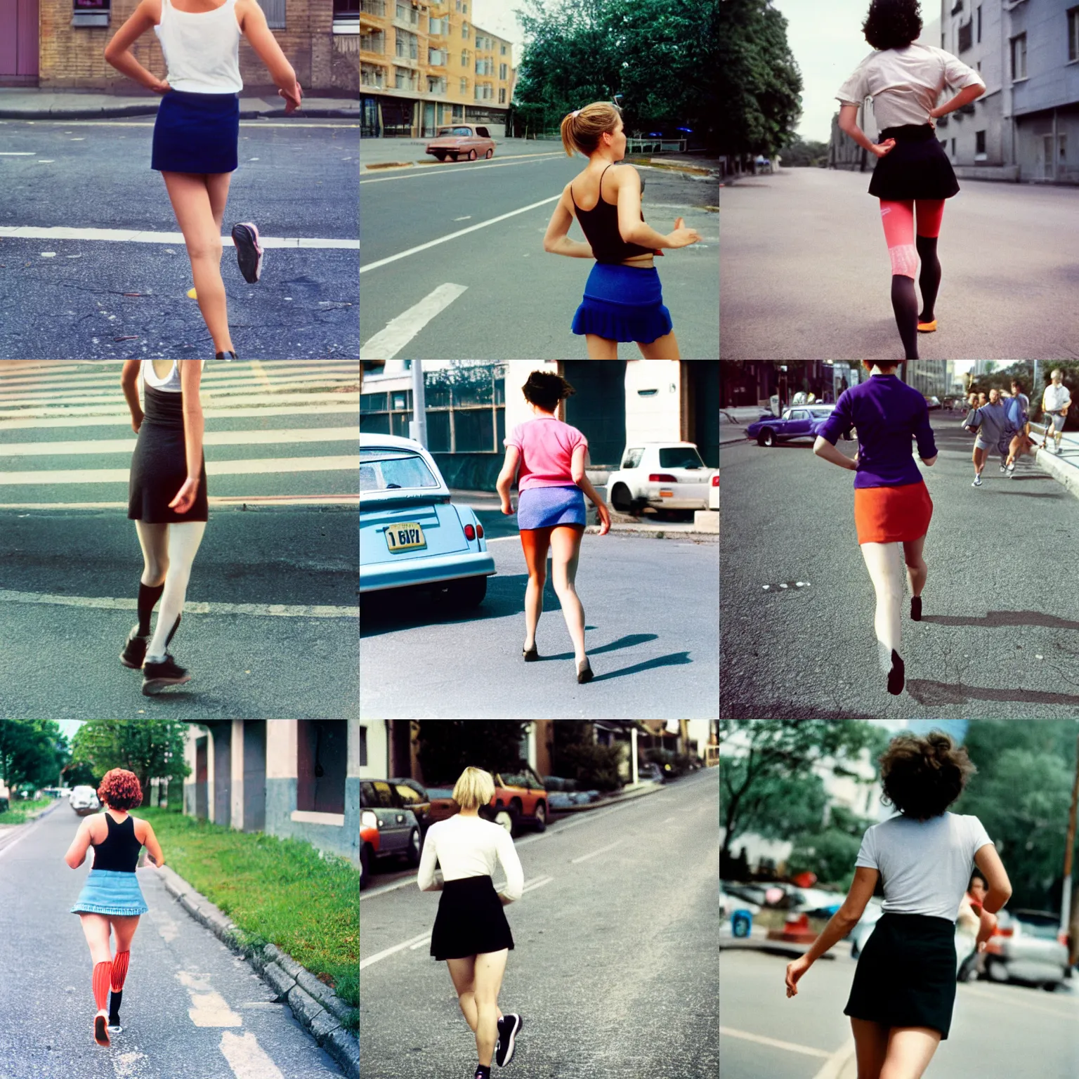
[{"label": "woman in purple top and orange-red skirt running", "polygon": [[[937,443],[929,426],[925,397],[900,382],[893,363],[870,364],[868,382],[844,390],[814,443],[819,457],[855,476],[855,528],[865,566],[876,591],[877,646],[880,668],[888,672],[888,692],[903,692],[900,658],[900,603],[903,599],[903,563],[911,585],[911,617],[921,620],[921,589],[928,572],[921,557],[933,515],[925,480],[911,453],[911,438],[918,442],[921,463],[937,460]],[[851,461],[836,449],[839,436],[858,429],[858,453]],[[898,544],[903,545],[900,555]]]}]

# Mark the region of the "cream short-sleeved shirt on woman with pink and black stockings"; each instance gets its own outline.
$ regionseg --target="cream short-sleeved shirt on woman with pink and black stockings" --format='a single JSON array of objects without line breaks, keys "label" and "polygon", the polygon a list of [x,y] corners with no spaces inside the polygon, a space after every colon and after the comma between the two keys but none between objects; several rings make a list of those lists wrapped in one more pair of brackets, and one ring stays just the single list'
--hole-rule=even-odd
[{"label": "cream short-sleeved shirt on woman with pink and black stockings", "polygon": [[929,123],[945,85],[955,91],[984,86],[982,77],[957,56],[932,45],[912,43],[905,49],[870,53],[835,95],[845,105],[873,98],[877,126]]}]

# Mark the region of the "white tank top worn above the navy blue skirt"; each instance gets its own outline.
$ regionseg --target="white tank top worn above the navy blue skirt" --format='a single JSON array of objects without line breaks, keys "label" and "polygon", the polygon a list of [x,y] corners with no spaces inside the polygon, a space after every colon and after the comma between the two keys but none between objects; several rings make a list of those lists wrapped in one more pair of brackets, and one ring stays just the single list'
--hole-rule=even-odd
[{"label": "white tank top worn above the navy blue skirt", "polygon": [[161,0],[161,22],[153,28],[165,55],[173,90],[189,94],[238,94],[240,25],[236,0],[214,11],[192,14]]}]

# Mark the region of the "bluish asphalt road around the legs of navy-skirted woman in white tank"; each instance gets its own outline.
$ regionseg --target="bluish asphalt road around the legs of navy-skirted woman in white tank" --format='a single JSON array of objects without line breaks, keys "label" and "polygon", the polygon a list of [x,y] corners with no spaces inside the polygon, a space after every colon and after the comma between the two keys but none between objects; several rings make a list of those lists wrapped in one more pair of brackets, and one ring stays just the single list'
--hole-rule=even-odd
[{"label": "bluish asphalt road around the legs of navy-skirted woman in white tank", "polygon": [[[0,131],[0,227],[179,233],[150,169],[152,118],[8,120]],[[263,236],[355,244],[358,141],[358,125],[344,120],[242,121],[223,234],[255,221]],[[213,356],[177,240],[0,234],[0,357]],[[357,265],[354,247],[273,247],[248,285],[226,242],[221,275],[238,355],[357,357]]]}]

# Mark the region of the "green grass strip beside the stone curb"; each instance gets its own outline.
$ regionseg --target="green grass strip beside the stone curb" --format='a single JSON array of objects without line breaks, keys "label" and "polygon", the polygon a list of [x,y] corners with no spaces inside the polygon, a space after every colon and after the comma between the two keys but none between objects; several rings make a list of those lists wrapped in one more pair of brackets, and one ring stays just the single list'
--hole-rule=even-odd
[{"label": "green grass strip beside the stone curb", "polygon": [[[135,815],[153,825],[165,864],[228,914],[248,947],[275,944],[359,1008],[358,869],[299,839],[150,806]],[[358,1033],[358,1010],[345,1026]]]}]

